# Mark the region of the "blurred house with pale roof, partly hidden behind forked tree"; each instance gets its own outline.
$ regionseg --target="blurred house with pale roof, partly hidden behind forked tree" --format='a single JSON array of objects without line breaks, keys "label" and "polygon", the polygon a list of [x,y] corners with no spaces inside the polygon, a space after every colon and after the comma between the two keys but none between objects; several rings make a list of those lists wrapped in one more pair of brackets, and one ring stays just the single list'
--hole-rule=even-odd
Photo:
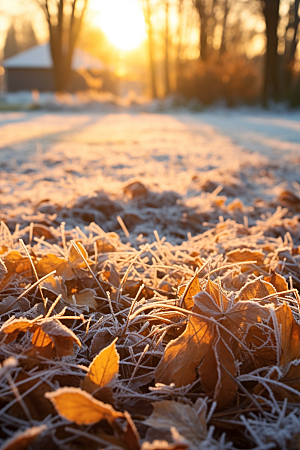
[{"label": "blurred house with pale roof, partly hidden behind forked tree", "polygon": [[[3,67],[8,92],[55,90],[50,43],[37,45],[4,60]],[[117,94],[117,77],[102,61],[76,48],[67,90],[75,92],[89,88]]]}]

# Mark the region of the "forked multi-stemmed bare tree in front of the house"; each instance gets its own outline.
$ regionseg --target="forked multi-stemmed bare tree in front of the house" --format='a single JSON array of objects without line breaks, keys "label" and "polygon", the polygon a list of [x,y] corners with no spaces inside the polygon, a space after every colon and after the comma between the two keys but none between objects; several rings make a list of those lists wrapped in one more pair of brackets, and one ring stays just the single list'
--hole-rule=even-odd
[{"label": "forked multi-stemmed bare tree in front of the house", "polygon": [[39,0],[49,26],[57,91],[64,91],[72,74],[72,58],[88,0]]}]

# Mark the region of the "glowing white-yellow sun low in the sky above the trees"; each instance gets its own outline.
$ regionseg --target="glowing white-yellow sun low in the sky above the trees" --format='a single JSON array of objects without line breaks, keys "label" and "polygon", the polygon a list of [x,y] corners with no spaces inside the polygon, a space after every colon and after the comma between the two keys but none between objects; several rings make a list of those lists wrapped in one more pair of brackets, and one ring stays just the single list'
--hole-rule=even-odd
[{"label": "glowing white-yellow sun low in the sky above the trees", "polygon": [[93,0],[95,23],[119,50],[139,47],[146,37],[146,27],[139,0]]}]

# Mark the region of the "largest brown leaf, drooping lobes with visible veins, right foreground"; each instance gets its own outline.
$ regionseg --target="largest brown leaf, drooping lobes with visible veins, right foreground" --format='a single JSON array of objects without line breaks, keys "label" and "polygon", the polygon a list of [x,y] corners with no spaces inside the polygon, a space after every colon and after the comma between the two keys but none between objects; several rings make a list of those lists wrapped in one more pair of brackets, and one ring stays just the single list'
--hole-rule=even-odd
[{"label": "largest brown leaf, drooping lobes with visible veins, right foreground", "polygon": [[196,380],[196,368],[200,365],[202,387],[221,409],[233,401],[237,390],[227,372],[236,375],[235,359],[243,348],[241,341],[249,346],[249,353],[250,348],[253,351],[253,339],[250,335],[247,341],[247,332],[251,325],[267,320],[270,312],[252,301],[230,304],[210,280],[205,291],[194,296],[194,302],[192,313],[197,315],[191,314],[185,331],[167,345],[155,379],[165,384],[173,382],[178,387],[187,385]]}]

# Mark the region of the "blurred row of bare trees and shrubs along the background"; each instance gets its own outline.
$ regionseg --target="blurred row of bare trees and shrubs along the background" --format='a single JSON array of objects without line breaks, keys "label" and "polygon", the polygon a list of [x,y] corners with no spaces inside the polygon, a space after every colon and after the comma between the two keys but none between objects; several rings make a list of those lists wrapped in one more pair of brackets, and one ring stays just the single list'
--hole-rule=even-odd
[{"label": "blurred row of bare trees and shrubs along the background", "polygon": [[[56,89],[63,91],[70,79],[74,48],[88,0],[38,2],[48,24]],[[209,91],[215,87],[216,91],[219,88],[218,95],[222,96],[224,92],[226,94],[226,89],[228,91],[230,83],[233,83],[233,91],[247,91],[250,98],[257,92],[252,89],[253,84],[258,83],[260,98],[265,105],[270,99],[289,99],[293,105],[300,103],[300,71],[297,69],[300,0],[140,2],[147,28],[149,79],[154,98],[158,96],[158,81],[161,78],[157,73],[159,52],[163,61],[160,72],[163,72],[164,95],[171,91],[185,93],[186,90],[190,96],[199,93],[201,97],[201,92],[203,94],[205,90]],[[283,6],[285,12],[282,12]],[[259,59],[258,63],[249,63],[249,58],[245,58],[245,49],[249,48],[255,35],[253,29],[247,28],[245,12],[249,17],[259,19],[264,24],[262,34],[265,48],[256,58]],[[174,15],[177,17],[175,27],[171,23]],[[198,55],[190,58],[184,56],[184,52],[188,52],[187,36],[192,21],[197,23],[198,27]],[[15,51],[14,46],[16,47],[17,43],[13,34],[11,26],[4,49],[5,57]],[[35,39],[32,27],[27,35],[32,44]],[[259,70],[255,69],[255,64]]]}]

